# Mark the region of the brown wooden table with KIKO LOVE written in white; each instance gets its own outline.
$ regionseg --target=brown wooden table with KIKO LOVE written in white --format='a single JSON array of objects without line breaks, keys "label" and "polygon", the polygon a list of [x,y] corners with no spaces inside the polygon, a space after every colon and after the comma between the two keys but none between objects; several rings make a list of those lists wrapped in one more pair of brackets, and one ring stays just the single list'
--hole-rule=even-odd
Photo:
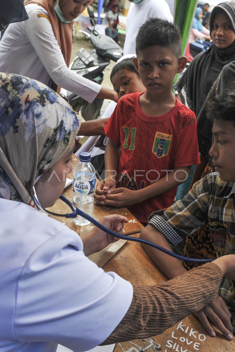
[{"label": "brown wooden table with KIKO LOVE written in white", "polygon": [[[75,157],[76,158],[76,157]],[[74,159],[73,161],[76,161]],[[72,186],[69,186],[63,193],[68,199],[72,199]],[[62,211],[64,203],[56,203],[51,208],[53,211]],[[114,208],[105,206],[95,206],[95,218],[99,219],[103,215],[122,214],[126,216],[130,223],[124,226],[124,233],[139,233],[142,229],[140,222],[126,208]],[[72,219],[57,218],[66,222],[66,225],[78,233],[88,231],[91,225],[77,226]],[[99,267],[107,271],[114,271],[132,284],[154,285],[167,281],[167,277],[155,266],[139,243],[119,240],[109,246],[108,250],[101,251],[96,257],[91,259]],[[131,322],[130,322],[131,324]],[[190,315],[179,321],[175,326],[169,328],[161,335],[152,338],[133,340],[118,343],[115,352],[235,352],[235,338],[228,341],[215,328],[216,337],[212,338],[205,331],[199,320]]]}]

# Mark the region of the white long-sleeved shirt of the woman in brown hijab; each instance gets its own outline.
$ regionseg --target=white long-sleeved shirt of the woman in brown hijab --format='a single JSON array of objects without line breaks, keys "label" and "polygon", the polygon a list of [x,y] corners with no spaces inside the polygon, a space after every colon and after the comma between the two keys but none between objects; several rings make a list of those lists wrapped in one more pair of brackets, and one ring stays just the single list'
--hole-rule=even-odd
[{"label": "white long-sleeved shirt of the woman in brown hijab", "polygon": [[[11,23],[0,42],[0,72],[33,78],[48,85],[50,78],[57,86],[92,102],[101,86],[69,70],[54,36],[47,11],[37,5],[26,5],[29,19]],[[71,33],[72,40],[72,33]]]}]

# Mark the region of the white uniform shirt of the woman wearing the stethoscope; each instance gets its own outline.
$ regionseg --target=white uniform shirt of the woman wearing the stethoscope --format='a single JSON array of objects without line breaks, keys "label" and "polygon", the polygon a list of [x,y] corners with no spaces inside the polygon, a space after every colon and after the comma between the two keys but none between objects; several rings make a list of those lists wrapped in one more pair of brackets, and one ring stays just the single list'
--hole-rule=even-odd
[{"label": "white uniform shirt of the woman wearing the stethoscope", "polygon": [[0,199],[0,224],[0,350],[103,342],[129,309],[132,285],[86,258],[76,232],[24,203]]}]

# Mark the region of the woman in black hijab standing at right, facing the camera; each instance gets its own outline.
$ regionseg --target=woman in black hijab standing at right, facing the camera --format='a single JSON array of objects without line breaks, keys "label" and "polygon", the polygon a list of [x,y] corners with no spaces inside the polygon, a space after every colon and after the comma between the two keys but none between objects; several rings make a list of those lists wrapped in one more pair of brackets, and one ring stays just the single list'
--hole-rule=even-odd
[{"label": "woman in black hijab standing at right, facing the camera", "polygon": [[[178,99],[192,109],[197,116],[197,134],[201,164],[198,164],[196,168],[192,184],[202,177],[206,163],[209,161],[208,152],[211,147],[212,125],[206,119],[203,108],[204,102],[209,92],[212,95],[217,92],[218,84],[221,82],[219,74],[223,67],[235,61],[234,3],[224,2],[214,7],[210,17],[210,36],[213,44],[208,50],[198,54],[193,59],[185,74],[175,85],[175,89],[179,92]],[[218,76],[219,78],[217,79]],[[214,171],[212,167],[209,167],[206,173]],[[182,184],[178,188],[177,199],[181,199],[186,194],[190,182],[188,180],[187,184]],[[186,238],[184,256],[193,256],[202,259],[215,258],[216,253],[212,246],[212,239],[207,225],[195,232],[192,237]],[[183,264],[187,270],[193,266],[198,266],[198,264],[194,265],[188,262],[184,262]]]}]

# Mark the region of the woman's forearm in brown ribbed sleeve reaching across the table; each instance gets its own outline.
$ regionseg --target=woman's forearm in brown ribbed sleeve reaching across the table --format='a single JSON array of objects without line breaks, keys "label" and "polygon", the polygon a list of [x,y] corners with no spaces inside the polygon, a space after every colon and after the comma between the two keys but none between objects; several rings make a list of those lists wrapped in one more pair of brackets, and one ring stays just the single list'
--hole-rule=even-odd
[{"label": "woman's forearm in brown ribbed sleeve reaching across the table", "polygon": [[[161,334],[215,300],[223,276],[235,278],[235,255],[218,258],[159,285],[133,285],[128,312],[101,345]],[[233,338],[230,329],[221,327],[221,331],[228,340]],[[211,328],[209,333],[215,336],[213,332]]]}]

